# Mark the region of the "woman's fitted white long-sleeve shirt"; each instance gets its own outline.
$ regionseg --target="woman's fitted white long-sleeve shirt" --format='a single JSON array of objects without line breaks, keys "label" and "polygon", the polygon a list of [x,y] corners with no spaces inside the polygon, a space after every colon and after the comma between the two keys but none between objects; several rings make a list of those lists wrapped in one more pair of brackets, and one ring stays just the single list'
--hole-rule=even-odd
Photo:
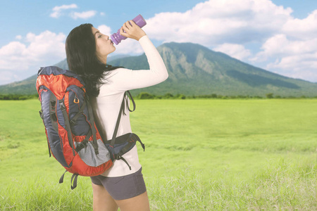
[{"label": "woman's fitted white long-sleeve shirt", "polygon": [[[100,88],[99,96],[92,99],[94,116],[101,138],[104,140],[112,139],[125,91],[150,87],[168,78],[163,59],[149,40],[149,37],[145,35],[139,39],[139,44],[141,44],[147,56],[149,70],[128,70],[125,68],[111,70],[106,75],[104,84]],[[128,108],[125,108],[125,114],[121,116],[117,136],[132,132]],[[101,175],[105,177],[120,177],[135,173],[141,167],[137,155],[137,145],[128,153],[125,153],[123,158],[128,161],[132,170],[129,169],[123,160],[115,160],[113,166]]]}]

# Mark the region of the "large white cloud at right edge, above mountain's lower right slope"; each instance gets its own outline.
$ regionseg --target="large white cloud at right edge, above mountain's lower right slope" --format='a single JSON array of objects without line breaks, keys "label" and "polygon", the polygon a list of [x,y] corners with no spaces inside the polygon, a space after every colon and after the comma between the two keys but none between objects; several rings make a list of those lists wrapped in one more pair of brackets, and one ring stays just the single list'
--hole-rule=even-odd
[{"label": "large white cloud at right edge, above mountain's lower right slope", "polygon": [[278,74],[317,82],[317,10],[304,19],[290,17],[251,60],[267,62],[266,69]]}]

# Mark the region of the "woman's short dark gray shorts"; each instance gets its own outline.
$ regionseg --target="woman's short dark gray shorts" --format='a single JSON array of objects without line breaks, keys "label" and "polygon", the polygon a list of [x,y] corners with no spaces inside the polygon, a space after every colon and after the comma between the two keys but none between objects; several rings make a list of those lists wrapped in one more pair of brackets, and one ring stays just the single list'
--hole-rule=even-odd
[{"label": "woman's short dark gray shorts", "polygon": [[104,186],[114,200],[132,198],[147,191],[142,167],[137,172],[122,177],[104,177],[98,175],[90,178],[93,184]]}]

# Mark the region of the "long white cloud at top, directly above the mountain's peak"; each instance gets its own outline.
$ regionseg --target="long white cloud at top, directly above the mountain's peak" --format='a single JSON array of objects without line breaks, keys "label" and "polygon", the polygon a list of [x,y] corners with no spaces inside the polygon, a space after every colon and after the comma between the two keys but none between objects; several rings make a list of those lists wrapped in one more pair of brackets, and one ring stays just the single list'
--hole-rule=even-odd
[{"label": "long white cloud at top, directly above the mountain's peak", "polygon": [[213,47],[271,37],[290,18],[291,8],[269,0],[210,0],[185,13],[159,13],[147,20],[147,33],[162,41],[191,41]]}]

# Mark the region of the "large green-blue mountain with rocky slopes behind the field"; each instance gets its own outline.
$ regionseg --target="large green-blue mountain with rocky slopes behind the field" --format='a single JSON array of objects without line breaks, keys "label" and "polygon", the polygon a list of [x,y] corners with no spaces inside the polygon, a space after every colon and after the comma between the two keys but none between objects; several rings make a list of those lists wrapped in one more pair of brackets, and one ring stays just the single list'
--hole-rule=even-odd
[{"label": "large green-blue mountain with rocky slopes behind the field", "polygon": [[[168,69],[168,79],[154,87],[133,90],[133,95],[147,91],[156,95],[170,93],[187,96],[265,96],[268,93],[275,96],[317,96],[316,83],[268,72],[199,44],[171,42],[157,49]],[[108,63],[132,70],[149,69],[145,54],[112,60],[109,58]],[[66,60],[56,65],[67,68]],[[35,80],[36,75],[21,82],[0,86],[0,94],[35,94]]]}]

